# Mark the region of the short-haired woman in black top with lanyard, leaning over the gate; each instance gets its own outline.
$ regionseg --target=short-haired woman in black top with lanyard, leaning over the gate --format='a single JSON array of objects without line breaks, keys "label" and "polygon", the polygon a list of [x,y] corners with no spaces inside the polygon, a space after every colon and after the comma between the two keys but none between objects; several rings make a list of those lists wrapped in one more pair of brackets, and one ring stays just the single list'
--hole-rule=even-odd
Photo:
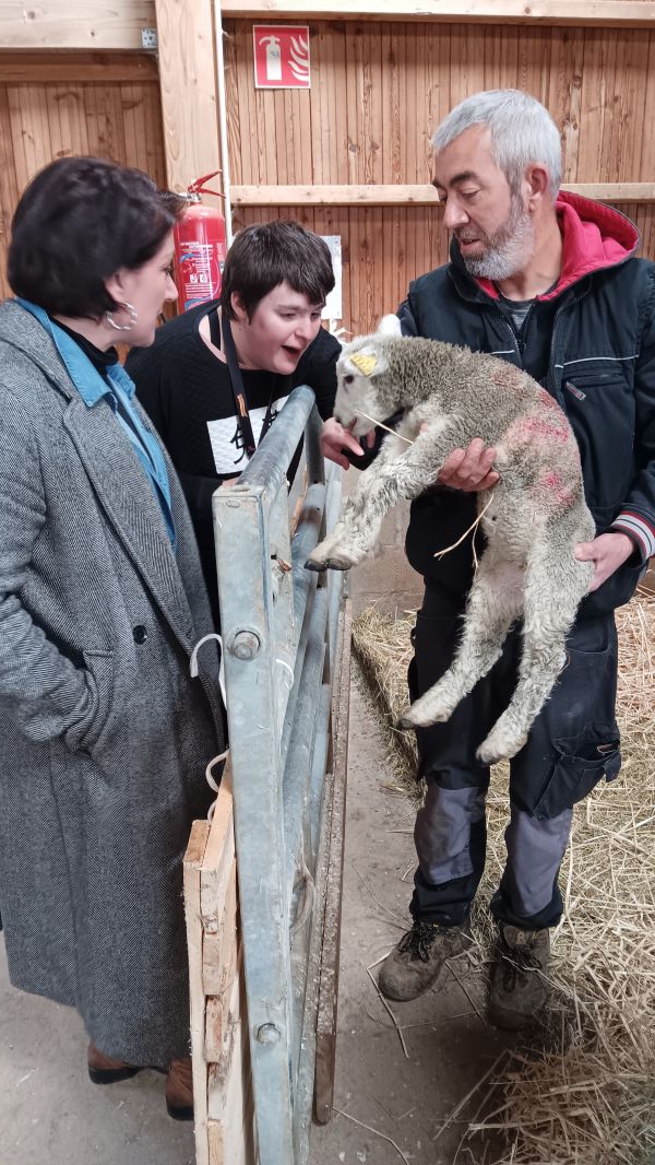
[{"label": "short-haired woman in black top with lanyard, leaning over the gate", "polygon": [[333,287],[320,235],[286,219],[248,226],[228,252],[220,299],[172,319],[151,348],[128,356],[179,474],[216,623],[212,495],[245,468],[294,386],[313,388],[320,415],[332,415],[341,346],[321,312]]}]

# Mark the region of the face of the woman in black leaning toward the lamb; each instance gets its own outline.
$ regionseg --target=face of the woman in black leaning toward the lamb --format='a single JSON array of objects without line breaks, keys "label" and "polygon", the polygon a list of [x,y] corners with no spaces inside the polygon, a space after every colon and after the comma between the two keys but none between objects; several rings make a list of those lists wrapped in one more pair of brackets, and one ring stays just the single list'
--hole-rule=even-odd
[{"label": "face of the woman in black leaning toward the lamb", "polygon": [[236,295],[232,297],[232,306],[240,363],[287,376],[316,338],[325,304],[309,303],[306,295],[294,291],[289,283],[279,283],[259,299],[251,319]]}]

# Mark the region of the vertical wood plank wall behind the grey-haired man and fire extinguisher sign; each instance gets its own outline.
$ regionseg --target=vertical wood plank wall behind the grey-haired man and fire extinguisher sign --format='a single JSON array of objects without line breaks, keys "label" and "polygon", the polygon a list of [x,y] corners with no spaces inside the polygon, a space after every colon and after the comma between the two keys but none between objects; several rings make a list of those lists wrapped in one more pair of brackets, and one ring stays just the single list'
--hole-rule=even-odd
[{"label": "vertical wood plank wall behind the grey-haired man and fire extinguisher sign", "polygon": [[[252,22],[225,26],[233,184],[425,183],[429,135],[482,89],[527,90],[550,110],[565,182],[655,176],[655,30],[309,22],[311,91],[255,90]],[[655,257],[652,205],[636,219]],[[415,275],[447,257],[435,207],[236,207],[235,228],[293,217],[341,234],[344,326],[365,331]]]}]

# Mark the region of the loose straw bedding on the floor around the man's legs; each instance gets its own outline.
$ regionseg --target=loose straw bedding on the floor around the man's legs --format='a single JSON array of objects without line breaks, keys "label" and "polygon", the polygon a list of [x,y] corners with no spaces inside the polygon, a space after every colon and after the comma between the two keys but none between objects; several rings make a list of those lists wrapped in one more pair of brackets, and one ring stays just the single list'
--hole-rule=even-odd
[{"label": "loose straw bedding on the floor around the man's legs", "polygon": [[[355,622],[354,645],[380,709],[397,784],[415,797],[413,737],[392,728],[407,701],[413,622],[371,608]],[[574,814],[546,1047],[541,1037],[510,1053],[492,1082],[491,1110],[462,1142],[478,1159],[485,1134],[501,1130],[507,1151],[497,1165],[655,1162],[655,595],[638,591],[617,624],[624,765]],[[506,768],[498,765],[480,902],[505,861],[506,789]],[[484,906],[474,922],[487,958],[492,926]]]}]

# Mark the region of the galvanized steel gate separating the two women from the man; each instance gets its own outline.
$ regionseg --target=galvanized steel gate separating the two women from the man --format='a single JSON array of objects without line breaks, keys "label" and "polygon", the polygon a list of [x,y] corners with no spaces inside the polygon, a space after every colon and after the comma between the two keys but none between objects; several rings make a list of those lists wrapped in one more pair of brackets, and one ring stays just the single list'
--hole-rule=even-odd
[{"label": "galvanized steel gate separating the two women from the man", "polygon": [[[314,1044],[302,1033],[342,581],[304,567],[340,508],[319,430],[313,393],[294,389],[213,500],[261,1165],[305,1165],[311,1122]],[[309,485],[291,543],[286,474],[304,432]]]}]

